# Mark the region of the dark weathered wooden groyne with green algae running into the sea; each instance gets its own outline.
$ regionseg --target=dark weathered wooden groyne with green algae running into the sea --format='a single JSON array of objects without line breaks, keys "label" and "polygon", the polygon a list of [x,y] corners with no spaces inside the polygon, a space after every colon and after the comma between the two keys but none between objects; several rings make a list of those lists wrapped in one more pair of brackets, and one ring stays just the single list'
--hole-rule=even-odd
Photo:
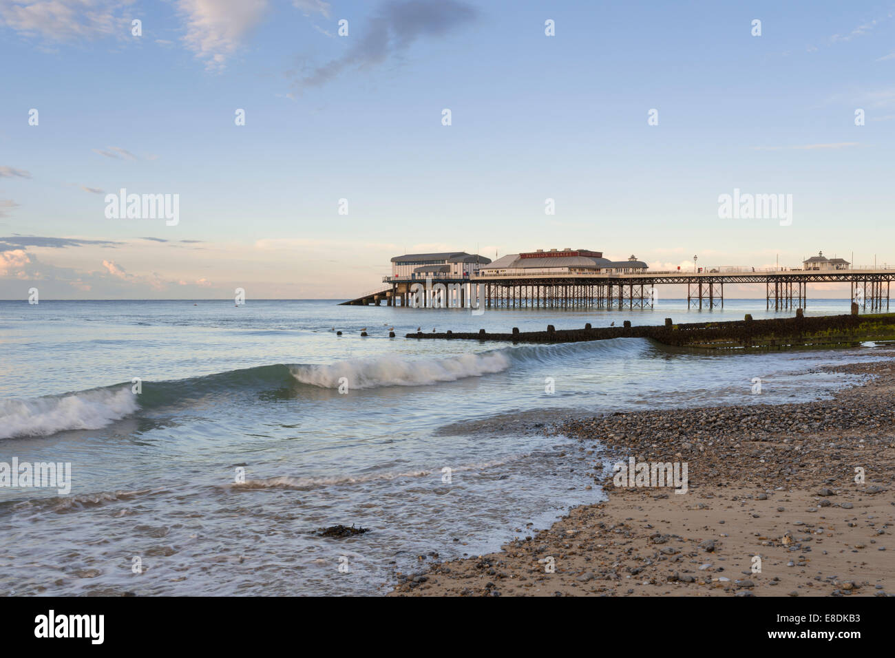
[{"label": "dark weathered wooden groyne with green algae running into the sea", "polygon": [[632,327],[625,321],[622,327],[584,329],[554,329],[510,333],[453,332],[406,334],[406,338],[440,338],[442,340],[496,340],[512,343],[575,343],[584,340],[609,338],[652,338],[665,345],[708,349],[779,350],[816,347],[854,346],[865,341],[895,341],[895,313],[858,315],[857,304],[850,315],[805,317],[801,309],[794,318],[773,318],[724,322],[692,322],[674,324],[670,318],[664,325]]}]

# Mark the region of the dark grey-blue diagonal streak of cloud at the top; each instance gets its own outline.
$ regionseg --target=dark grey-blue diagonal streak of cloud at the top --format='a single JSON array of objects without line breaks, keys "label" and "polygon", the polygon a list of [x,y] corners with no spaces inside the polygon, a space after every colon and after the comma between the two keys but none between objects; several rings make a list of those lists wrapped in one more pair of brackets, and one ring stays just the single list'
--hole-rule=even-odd
[{"label": "dark grey-blue diagonal streak of cloud at the top", "polygon": [[382,4],[379,13],[368,21],[368,30],[345,56],[318,66],[296,81],[296,90],[320,87],[347,69],[377,66],[390,56],[405,51],[423,37],[443,37],[451,30],[473,21],[476,10],[458,0],[432,3],[404,0]]}]

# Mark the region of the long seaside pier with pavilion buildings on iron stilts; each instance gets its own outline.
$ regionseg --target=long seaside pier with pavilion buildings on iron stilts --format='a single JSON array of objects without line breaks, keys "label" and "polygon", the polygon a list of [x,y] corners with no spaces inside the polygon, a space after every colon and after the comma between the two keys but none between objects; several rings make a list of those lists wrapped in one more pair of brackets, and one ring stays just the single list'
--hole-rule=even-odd
[{"label": "long seaside pier with pavilion buildings on iron stilts", "polygon": [[[889,311],[895,269],[855,267],[823,252],[801,268],[743,266],[650,271],[632,254],[610,261],[602,252],[565,248],[511,253],[496,261],[466,252],[408,253],[391,259],[382,285],[345,304],[488,309],[652,308],[660,286],[686,286],[690,308],[724,306],[724,286],[764,286],[765,308],[805,308],[809,284],[848,283],[851,301],[870,312]],[[422,302],[422,303],[421,303]]]}]

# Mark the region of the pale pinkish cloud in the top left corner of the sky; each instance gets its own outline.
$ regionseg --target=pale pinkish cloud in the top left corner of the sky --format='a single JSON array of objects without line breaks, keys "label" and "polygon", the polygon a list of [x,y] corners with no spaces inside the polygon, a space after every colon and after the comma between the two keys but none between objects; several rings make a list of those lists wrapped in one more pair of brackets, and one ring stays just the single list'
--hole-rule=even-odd
[{"label": "pale pinkish cloud in the top left corner of the sky", "polygon": [[49,41],[130,36],[130,0],[0,0],[0,24]]}]

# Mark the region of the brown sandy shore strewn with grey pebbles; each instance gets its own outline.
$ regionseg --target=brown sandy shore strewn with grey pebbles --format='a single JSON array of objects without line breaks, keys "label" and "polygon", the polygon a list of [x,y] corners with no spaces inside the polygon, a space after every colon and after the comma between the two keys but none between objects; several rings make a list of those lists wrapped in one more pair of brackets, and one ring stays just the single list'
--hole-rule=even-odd
[{"label": "brown sandy shore strewn with grey pebbles", "polygon": [[[831,369],[873,376],[831,400],[560,423],[609,500],[503,551],[399,575],[390,594],[895,594],[895,353],[878,354],[889,360]],[[615,486],[609,465],[628,457],[686,462],[687,492]]]}]

